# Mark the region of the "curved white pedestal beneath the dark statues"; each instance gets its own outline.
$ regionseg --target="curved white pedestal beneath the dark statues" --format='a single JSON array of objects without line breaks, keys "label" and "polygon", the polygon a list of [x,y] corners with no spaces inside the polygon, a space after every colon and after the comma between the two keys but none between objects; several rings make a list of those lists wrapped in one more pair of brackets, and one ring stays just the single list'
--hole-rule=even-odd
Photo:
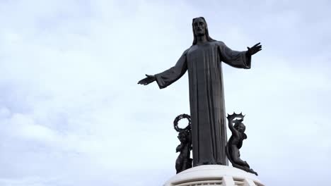
[{"label": "curved white pedestal beneath the dark statues", "polygon": [[164,186],[265,186],[257,176],[230,166],[196,166],[182,171]]}]

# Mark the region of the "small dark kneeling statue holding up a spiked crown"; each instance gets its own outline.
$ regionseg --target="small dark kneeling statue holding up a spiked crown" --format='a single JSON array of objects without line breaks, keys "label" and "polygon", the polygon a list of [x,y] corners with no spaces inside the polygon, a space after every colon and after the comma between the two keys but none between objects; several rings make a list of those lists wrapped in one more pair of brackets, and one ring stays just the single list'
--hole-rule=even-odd
[{"label": "small dark kneeling statue holding up a spiked crown", "polygon": [[[240,168],[243,171],[257,175],[257,173],[253,171],[252,168],[250,168],[246,161],[240,159],[239,149],[243,146],[243,140],[247,139],[247,135],[245,134],[246,127],[242,123],[244,117],[245,116],[243,116],[241,113],[233,113],[227,117],[228,128],[230,128],[232,135],[228,140],[228,144],[226,144],[226,156],[228,156],[228,160],[232,163],[233,167]],[[240,119],[235,120],[235,118]]]}]

